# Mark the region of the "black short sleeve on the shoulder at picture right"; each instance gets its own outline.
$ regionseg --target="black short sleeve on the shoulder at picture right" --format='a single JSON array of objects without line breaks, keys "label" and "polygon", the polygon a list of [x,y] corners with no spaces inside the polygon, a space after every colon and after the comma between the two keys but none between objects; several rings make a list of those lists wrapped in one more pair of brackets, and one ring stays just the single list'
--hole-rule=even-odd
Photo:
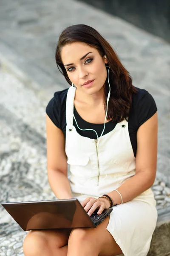
[{"label": "black short sleeve on the shoulder at picture right", "polygon": [[137,122],[138,128],[146,122],[150,117],[152,117],[157,111],[156,102],[153,99],[153,96],[145,90],[141,99],[139,100],[139,104],[137,105]]}]

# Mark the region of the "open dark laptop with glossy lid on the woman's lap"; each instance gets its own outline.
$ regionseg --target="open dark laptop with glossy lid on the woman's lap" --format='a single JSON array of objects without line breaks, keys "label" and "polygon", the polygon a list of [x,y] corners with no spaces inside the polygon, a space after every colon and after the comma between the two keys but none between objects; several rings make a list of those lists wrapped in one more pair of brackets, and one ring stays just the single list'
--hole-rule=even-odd
[{"label": "open dark laptop with glossy lid on the woman's lap", "polygon": [[89,216],[77,198],[1,203],[24,231],[91,227],[96,228],[112,212],[99,209]]}]

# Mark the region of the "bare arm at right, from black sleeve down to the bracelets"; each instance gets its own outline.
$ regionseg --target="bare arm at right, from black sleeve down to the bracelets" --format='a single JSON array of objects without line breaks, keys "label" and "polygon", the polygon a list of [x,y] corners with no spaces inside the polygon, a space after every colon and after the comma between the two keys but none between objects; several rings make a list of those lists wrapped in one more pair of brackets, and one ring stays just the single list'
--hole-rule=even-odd
[{"label": "bare arm at right, from black sleeve down to the bracelets", "polygon": [[[156,177],[157,137],[156,112],[137,131],[136,174],[117,188],[122,195],[123,203],[132,200],[153,185]],[[113,198],[115,204],[121,204],[118,192],[112,191],[107,195]]]}]

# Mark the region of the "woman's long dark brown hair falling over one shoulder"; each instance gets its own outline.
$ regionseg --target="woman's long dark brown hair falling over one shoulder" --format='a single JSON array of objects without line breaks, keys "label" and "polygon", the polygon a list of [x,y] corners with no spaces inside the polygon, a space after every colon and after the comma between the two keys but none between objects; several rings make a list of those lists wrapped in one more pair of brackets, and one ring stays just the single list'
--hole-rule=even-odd
[{"label": "woman's long dark brown hair falling over one shoulder", "polygon": [[[67,71],[61,60],[61,50],[66,44],[73,42],[82,42],[98,50],[99,54],[103,57],[107,56],[109,70],[109,82],[111,85],[111,96],[108,102],[108,115],[107,119],[112,119],[112,122],[121,122],[127,120],[129,116],[130,107],[132,104],[132,94],[136,93],[136,88],[132,85],[132,78],[129,72],[122,65],[116,52],[114,52],[111,45],[91,26],[78,24],[65,28],[59,36],[59,41],[56,49],[56,63],[57,67],[61,68],[59,71],[65,76],[68,84],[72,84],[68,78]],[[109,67],[106,67],[107,71]],[[107,100],[109,92],[108,78],[104,84],[105,99]],[[106,111],[106,101],[105,101]]]}]

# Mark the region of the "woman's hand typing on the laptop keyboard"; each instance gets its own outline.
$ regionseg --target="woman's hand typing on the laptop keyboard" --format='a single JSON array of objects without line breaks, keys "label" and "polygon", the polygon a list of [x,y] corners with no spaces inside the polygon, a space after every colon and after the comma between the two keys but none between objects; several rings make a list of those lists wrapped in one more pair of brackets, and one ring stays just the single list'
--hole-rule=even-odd
[{"label": "woman's hand typing on the laptop keyboard", "polygon": [[81,202],[82,207],[84,207],[85,211],[88,212],[88,215],[91,214],[98,208],[97,214],[101,214],[104,209],[108,209],[110,207],[110,203],[106,198],[91,198],[88,197],[84,201]]}]

